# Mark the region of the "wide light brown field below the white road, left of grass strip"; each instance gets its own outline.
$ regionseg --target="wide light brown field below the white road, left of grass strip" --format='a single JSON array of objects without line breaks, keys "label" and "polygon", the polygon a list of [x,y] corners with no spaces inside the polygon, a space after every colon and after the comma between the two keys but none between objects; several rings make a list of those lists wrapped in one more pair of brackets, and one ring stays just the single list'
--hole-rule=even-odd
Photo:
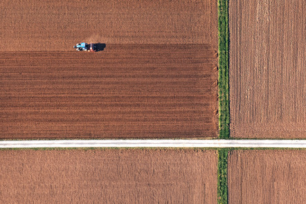
[{"label": "wide light brown field below the white road, left of grass strip", "polygon": [[217,203],[217,152],[0,151],[1,203]]}]

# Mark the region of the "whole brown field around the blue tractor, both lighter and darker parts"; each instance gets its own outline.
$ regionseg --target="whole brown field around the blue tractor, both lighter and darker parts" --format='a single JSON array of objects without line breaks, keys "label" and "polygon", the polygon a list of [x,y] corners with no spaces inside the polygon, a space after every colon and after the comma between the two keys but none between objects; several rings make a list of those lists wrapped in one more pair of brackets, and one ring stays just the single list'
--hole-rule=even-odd
[{"label": "whole brown field around the blue tractor, both lighter and darker parts", "polygon": [[0,8],[0,138],[217,137],[217,1]]}]

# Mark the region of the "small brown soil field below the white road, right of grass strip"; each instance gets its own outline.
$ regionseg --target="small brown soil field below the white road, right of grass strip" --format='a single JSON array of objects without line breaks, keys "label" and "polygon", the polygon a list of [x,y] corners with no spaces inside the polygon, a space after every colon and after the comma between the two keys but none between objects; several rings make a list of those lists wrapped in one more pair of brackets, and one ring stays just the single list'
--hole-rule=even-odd
[{"label": "small brown soil field below the white road, right of grass strip", "polygon": [[306,151],[231,151],[228,203],[305,203],[305,161]]}]

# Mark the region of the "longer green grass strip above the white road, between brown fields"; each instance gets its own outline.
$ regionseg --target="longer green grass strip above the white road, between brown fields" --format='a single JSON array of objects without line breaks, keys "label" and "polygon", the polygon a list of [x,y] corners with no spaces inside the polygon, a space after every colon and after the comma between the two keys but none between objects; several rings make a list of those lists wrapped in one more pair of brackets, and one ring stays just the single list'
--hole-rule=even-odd
[{"label": "longer green grass strip above the white road, between brown fields", "polygon": [[228,89],[228,0],[218,1],[219,29],[219,138],[229,138],[229,89]]}]

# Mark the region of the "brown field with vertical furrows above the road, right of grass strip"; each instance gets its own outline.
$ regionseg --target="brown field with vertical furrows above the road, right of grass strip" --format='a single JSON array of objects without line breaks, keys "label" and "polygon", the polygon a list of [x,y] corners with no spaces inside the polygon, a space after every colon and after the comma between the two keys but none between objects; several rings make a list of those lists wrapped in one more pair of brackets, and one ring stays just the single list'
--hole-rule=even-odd
[{"label": "brown field with vertical furrows above the road, right of grass strip", "polygon": [[306,138],[306,1],[229,1],[231,136]]}]

